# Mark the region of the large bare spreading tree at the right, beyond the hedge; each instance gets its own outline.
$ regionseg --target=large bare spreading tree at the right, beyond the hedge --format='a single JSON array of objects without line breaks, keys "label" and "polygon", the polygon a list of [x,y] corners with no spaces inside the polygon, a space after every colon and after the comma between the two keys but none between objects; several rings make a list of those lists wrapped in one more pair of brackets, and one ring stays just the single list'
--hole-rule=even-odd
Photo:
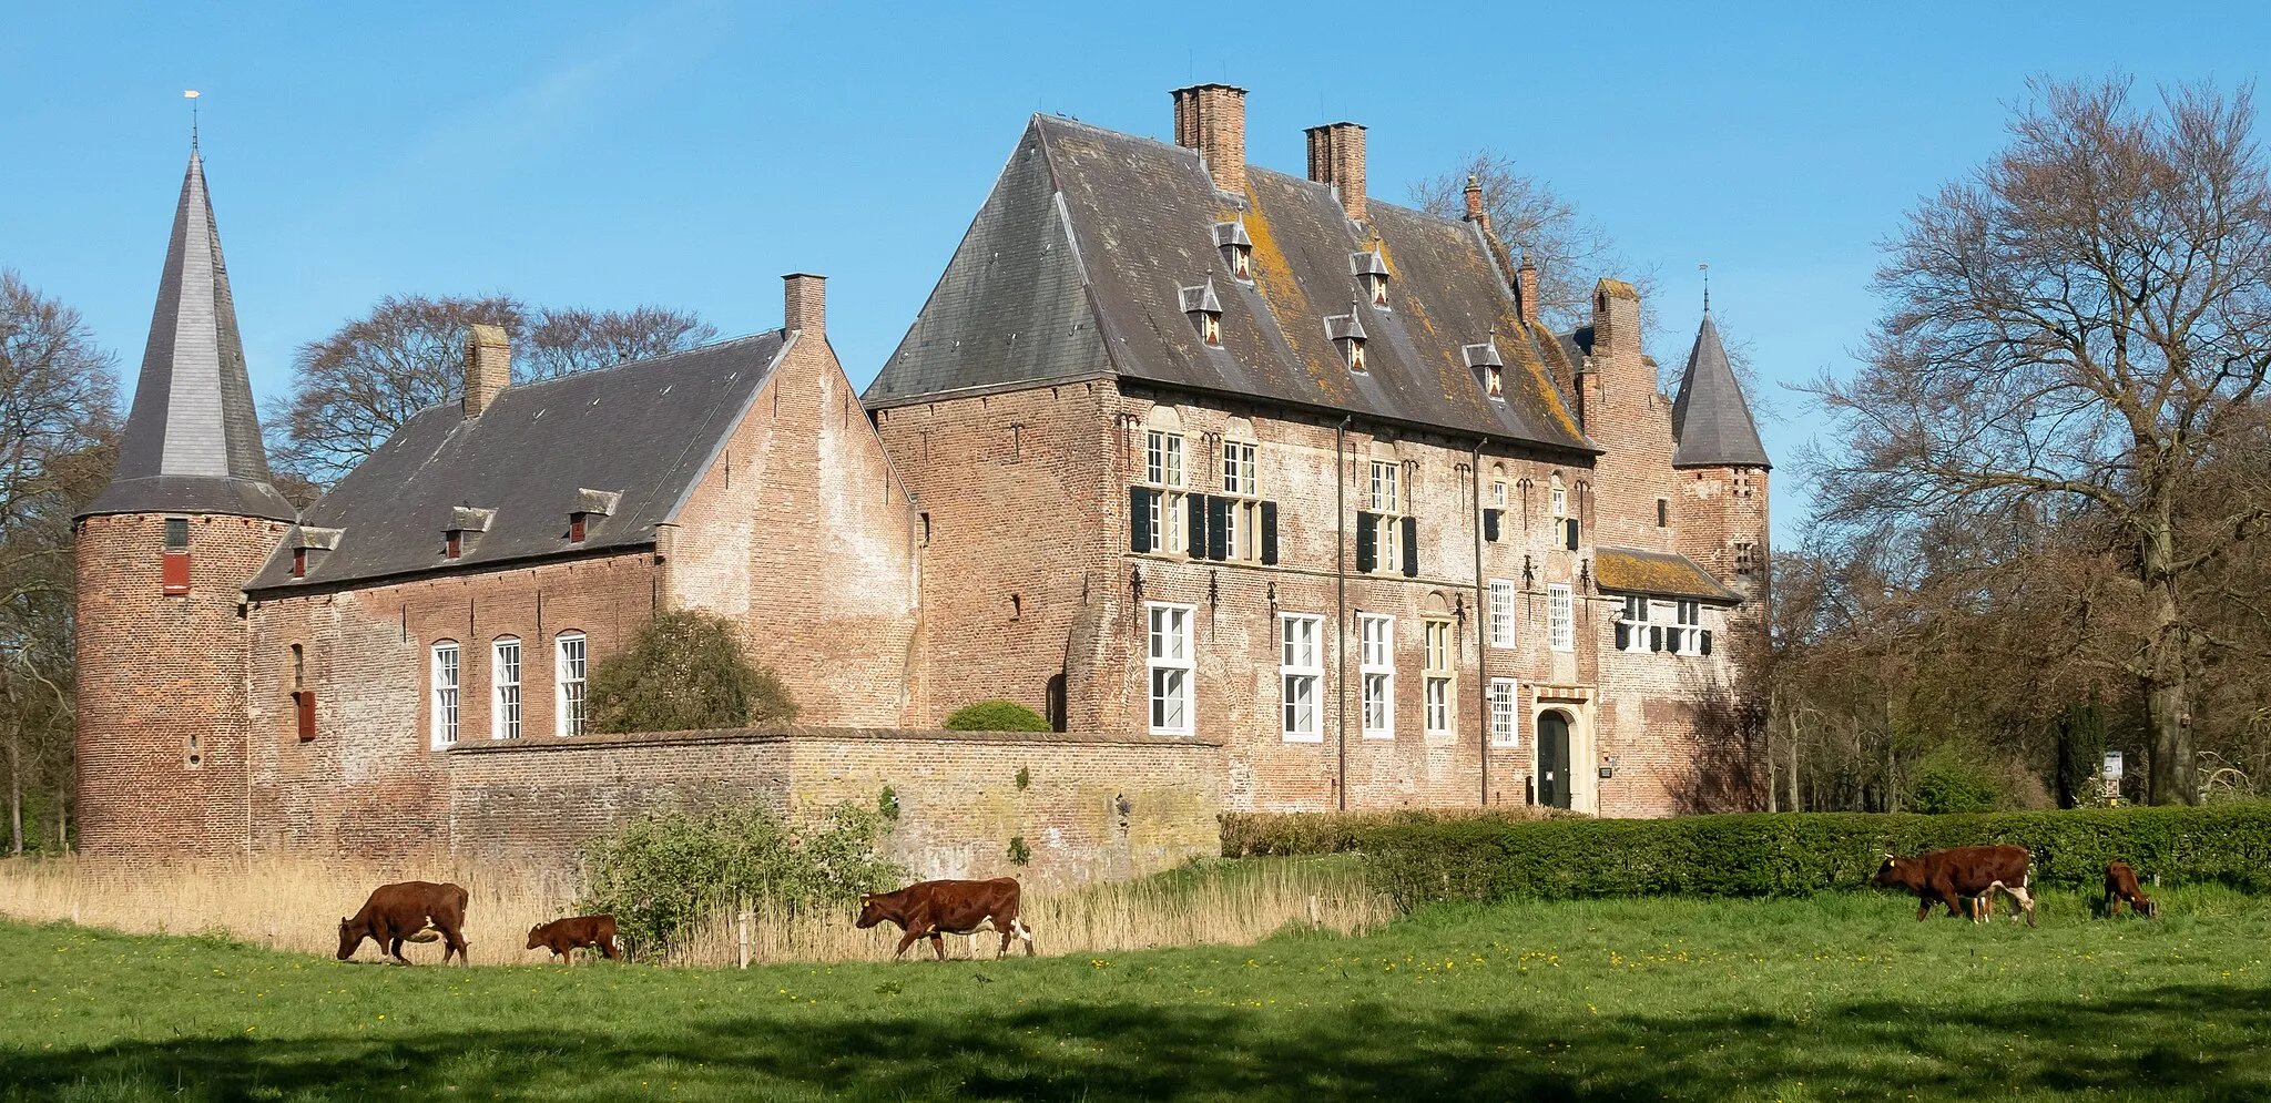
[{"label": "large bare spreading tree at the right, beyond the hedge", "polygon": [[[2271,186],[2253,95],[2139,107],[2128,82],[2042,82],[2010,145],[1887,243],[1889,313],[1851,381],[1812,386],[1844,431],[1830,524],[1930,524],[2023,506],[2089,515],[2126,549],[2128,645],[2153,803],[2194,803],[2192,708],[2230,645],[2203,606],[2271,517],[2260,481],[2203,497],[2260,440],[2271,368]],[[2187,524],[2185,513],[2214,508]]]}]

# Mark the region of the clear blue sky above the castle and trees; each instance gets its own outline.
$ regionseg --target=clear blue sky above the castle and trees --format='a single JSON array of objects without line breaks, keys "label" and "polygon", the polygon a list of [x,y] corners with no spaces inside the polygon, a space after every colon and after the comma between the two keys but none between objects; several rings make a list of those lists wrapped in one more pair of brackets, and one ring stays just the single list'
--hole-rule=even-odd
[{"label": "clear blue sky above the castle and trees", "polygon": [[[200,89],[266,402],[379,295],[654,302],[747,334],[790,270],[833,277],[865,384],[1029,113],[1165,136],[1195,79],[1251,89],[1247,154],[1288,172],[1301,127],[1365,123],[1388,200],[1508,152],[1658,266],[1667,345],[1710,263],[1728,338],[1803,381],[1851,370],[1876,243],[2001,145],[2028,75],[2248,82],[2271,5],[89,2],[7,25],[0,266],[77,306],[132,386]],[[1787,538],[1817,427],[1769,397]]]}]

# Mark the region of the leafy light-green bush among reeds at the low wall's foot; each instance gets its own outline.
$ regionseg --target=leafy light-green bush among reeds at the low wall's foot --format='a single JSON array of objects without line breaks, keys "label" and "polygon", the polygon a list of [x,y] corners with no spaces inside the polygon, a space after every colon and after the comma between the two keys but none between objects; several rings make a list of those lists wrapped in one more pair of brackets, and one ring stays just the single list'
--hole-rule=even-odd
[{"label": "leafy light-green bush among reeds at the low wall's foot", "polygon": [[584,844],[577,906],[611,912],[640,958],[661,958],[715,908],[799,912],[895,885],[886,835],[890,824],[854,803],[799,831],[752,803],[645,815]]}]

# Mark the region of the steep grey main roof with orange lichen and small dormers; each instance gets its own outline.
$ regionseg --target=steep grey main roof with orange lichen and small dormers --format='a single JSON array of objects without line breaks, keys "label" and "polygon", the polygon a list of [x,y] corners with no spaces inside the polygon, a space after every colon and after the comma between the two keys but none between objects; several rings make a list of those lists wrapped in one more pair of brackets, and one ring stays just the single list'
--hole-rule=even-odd
[{"label": "steep grey main roof with orange lichen and small dormers", "polygon": [[[1258,166],[1247,179],[1240,209],[1192,150],[1036,116],[865,404],[1117,374],[1597,452],[1476,225],[1378,200],[1367,222],[1351,222],[1324,184]],[[1240,220],[1251,284],[1217,245],[1217,227]],[[1349,311],[1351,259],[1374,245],[1390,309],[1358,306],[1369,370],[1356,374],[1326,318]],[[1222,300],[1220,347],[1183,313],[1181,288],[1208,277]],[[1492,334],[1506,402],[1483,393],[1465,356]]]}]

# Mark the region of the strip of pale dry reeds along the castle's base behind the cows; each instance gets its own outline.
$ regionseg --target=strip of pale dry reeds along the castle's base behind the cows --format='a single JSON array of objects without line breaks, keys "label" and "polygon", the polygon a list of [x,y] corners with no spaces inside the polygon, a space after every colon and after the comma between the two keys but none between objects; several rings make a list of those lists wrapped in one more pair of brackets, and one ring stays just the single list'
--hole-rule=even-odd
[{"label": "strip of pale dry reeds along the castle's base behind the cows", "polygon": [[[377,867],[316,860],[184,862],[116,867],[77,858],[0,860],[0,915],[30,921],[68,919],[150,935],[227,935],[279,951],[334,953],[338,919],[361,908],[388,881],[456,881],[466,906],[466,942],[477,965],[534,965],[545,951],[522,949],[531,926],[572,915],[575,885],[559,872],[463,865]],[[1385,924],[1392,906],[1363,885],[1349,860],[1208,862],[1145,881],[1104,883],[1061,894],[1031,894],[1024,919],[1040,953],[1113,953],[1151,946],[1249,944],[1285,926],[1340,933]],[[731,910],[668,953],[672,965],[720,967],[740,960]],[[858,931],[840,915],[772,917],[749,924],[752,962],[883,960],[897,928]],[[992,955],[995,935],[949,937],[949,955]],[[917,946],[929,953],[929,946]],[[409,946],[418,962],[441,960],[441,944]],[[915,951],[908,951],[915,953]],[[366,942],[361,958],[377,951]]]}]

